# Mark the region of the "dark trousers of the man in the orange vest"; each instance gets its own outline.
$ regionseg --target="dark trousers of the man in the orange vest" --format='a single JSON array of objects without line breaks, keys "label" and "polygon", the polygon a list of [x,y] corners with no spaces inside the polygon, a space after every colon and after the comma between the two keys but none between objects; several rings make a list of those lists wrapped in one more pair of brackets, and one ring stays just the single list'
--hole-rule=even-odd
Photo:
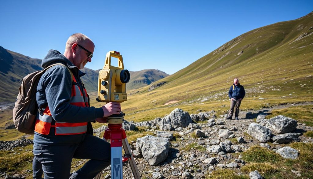
[{"label": "dark trousers of the man in the orange vest", "polygon": [[[86,134],[80,144],[34,145],[33,153],[43,166],[45,179],[69,179],[72,159],[91,159],[71,176],[73,179],[92,179],[110,165],[110,143]],[[75,164],[76,165],[76,164]]]}]

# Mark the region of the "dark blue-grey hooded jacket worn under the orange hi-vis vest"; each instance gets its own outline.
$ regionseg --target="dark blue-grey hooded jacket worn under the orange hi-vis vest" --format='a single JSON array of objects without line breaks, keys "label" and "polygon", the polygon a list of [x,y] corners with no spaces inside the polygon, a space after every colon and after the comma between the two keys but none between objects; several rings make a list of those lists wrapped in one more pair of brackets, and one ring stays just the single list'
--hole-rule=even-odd
[{"label": "dark blue-grey hooded jacket worn under the orange hi-vis vest", "polygon": [[[45,68],[54,63],[63,63],[75,76],[83,91],[83,83],[80,80],[85,73],[81,72],[74,64],[57,50],[49,50],[46,57],[42,61],[42,67]],[[61,65],[49,68],[40,78],[36,100],[40,114],[49,106],[51,115],[55,121],[67,123],[82,123],[94,121],[95,118],[103,117],[102,108],[95,107],[79,107],[69,103],[72,91],[71,75],[68,69]],[[54,121],[53,120],[53,121]],[[50,129],[48,135],[35,132],[34,144],[51,145],[51,144],[76,144],[82,141],[85,134],[74,134],[59,136],[54,134],[54,128]]]}]

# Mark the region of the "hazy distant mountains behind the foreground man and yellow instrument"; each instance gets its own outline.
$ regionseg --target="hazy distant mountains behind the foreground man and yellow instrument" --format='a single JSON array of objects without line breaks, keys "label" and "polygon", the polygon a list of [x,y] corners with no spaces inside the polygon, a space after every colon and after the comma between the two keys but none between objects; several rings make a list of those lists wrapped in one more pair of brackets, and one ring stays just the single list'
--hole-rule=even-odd
[{"label": "hazy distant mountains behind the foreground man and yellow instrument", "polygon": [[[13,102],[18,94],[19,81],[27,74],[42,70],[40,59],[33,59],[28,56],[6,50],[0,46],[0,102]],[[98,74],[100,70],[84,68],[86,73],[82,77],[84,86],[88,92],[95,92],[98,88]],[[168,76],[159,70],[131,71],[131,80],[127,83],[127,89],[144,87],[151,82]],[[138,79],[137,79],[138,78]]]}]

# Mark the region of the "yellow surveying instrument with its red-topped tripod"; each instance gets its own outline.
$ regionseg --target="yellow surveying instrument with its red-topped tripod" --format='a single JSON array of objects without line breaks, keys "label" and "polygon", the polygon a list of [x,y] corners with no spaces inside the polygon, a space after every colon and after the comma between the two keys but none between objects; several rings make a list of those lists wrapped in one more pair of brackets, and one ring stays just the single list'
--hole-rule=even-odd
[{"label": "yellow surveying instrument with its red-topped tripod", "polygon": [[[118,67],[111,66],[111,57],[118,59]],[[99,71],[98,102],[119,102],[127,100],[126,83],[130,79],[128,70],[124,70],[123,57],[119,52],[109,51],[105,57],[103,69]],[[105,129],[103,140],[111,145],[111,178],[123,179],[122,162],[128,161],[135,179],[140,179],[134,156],[128,144],[125,130],[122,128],[125,113],[107,117],[108,128]],[[122,156],[122,147],[125,155]],[[94,179],[100,179],[100,172]]]}]

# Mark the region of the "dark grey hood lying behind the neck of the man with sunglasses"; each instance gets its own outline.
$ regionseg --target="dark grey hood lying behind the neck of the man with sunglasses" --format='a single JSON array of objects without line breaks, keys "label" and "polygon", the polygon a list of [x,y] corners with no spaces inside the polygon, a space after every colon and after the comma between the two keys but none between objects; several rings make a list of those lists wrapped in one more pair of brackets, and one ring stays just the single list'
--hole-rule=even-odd
[{"label": "dark grey hood lying behind the neck of the man with sunglasses", "polygon": [[78,76],[83,76],[85,73],[81,72],[69,59],[67,59],[63,54],[61,54],[58,50],[49,50],[48,54],[41,61],[41,66],[43,68],[48,67],[54,63],[63,63],[67,65],[69,69],[71,69]]}]

